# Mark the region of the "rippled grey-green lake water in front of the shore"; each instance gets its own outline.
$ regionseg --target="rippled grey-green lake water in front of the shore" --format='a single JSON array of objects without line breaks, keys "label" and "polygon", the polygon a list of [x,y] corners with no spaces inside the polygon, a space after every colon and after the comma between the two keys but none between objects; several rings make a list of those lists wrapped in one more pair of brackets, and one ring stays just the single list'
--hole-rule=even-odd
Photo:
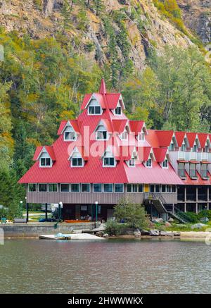
[{"label": "rippled grey-green lake water in front of the shore", "polygon": [[210,257],[180,240],[6,240],[0,292],[210,293]]}]

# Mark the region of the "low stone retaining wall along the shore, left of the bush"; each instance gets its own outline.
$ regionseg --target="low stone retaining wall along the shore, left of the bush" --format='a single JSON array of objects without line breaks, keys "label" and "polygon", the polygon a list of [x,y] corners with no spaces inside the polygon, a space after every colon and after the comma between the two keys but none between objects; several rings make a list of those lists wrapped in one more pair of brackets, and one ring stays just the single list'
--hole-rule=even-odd
[{"label": "low stone retaining wall along the shore, left of the bush", "polygon": [[41,234],[70,233],[72,228],[91,230],[95,228],[95,223],[59,223],[56,229],[54,226],[55,223],[0,223],[0,228],[3,228],[6,238],[30,238]]}]

